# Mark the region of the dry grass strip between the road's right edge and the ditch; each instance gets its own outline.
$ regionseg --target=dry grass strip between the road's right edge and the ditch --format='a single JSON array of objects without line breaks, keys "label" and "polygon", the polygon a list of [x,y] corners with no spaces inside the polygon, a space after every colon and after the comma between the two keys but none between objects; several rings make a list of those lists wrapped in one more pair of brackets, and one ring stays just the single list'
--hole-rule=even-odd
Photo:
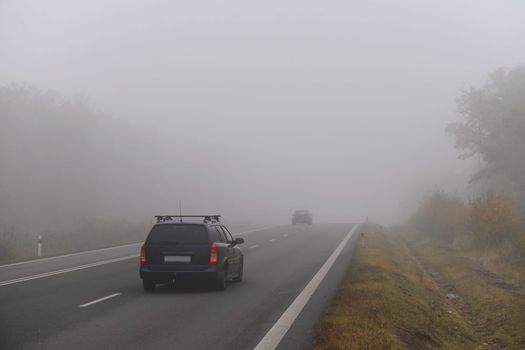
[{"label": "dry grass strip between the road's right edge and the ditch", "polygon": [[476,332],[400,238],[369,225],[319,326],[317,350],[474,349]]}]

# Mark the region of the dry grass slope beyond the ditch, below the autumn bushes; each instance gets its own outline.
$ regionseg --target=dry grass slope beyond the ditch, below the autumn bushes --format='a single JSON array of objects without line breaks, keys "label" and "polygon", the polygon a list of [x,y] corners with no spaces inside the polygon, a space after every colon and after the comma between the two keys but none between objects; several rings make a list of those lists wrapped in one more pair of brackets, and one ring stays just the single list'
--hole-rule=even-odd
[{"label": "dry grass slope beyond the ditch, below the autumn bushes", "polygon": [[493,348],[525,349],[525,286],[522,269],[482,264],[479,256],[438,246],[412,244],[425,266],[434,268],[459,298],[456,307],[484,343]]}]

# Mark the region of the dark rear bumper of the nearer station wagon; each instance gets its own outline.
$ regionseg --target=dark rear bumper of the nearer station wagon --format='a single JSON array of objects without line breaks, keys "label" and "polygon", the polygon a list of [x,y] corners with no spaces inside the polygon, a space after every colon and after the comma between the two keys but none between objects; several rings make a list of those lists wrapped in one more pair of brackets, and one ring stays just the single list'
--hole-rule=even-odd
[{"label": "dark rear bumper of the nearer station wagon", "polygon": [[166,265],[143,265],[140,267],[140,278],[156,282],[170,280],[216,280],[221,277],[218,266],[173,267]]}]

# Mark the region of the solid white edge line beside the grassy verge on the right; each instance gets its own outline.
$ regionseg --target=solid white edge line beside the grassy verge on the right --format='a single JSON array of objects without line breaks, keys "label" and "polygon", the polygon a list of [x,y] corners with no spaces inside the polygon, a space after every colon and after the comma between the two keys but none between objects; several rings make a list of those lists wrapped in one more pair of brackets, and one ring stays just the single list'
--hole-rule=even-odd
[{"label": "solid white edge line beside the grassy verge on the right", "polygon": [[293,303],[288,307],[288,309],[286,309],[277,322],[275,322],[273,327],[270,328],[268,333],[266,333],[266,335],[261,339],[254,350],[275,350],[277,348],[292,324],[295,322],[297,316],[299,316],[299,313],[303,310],[308,300],[310,300],[314,292],[317,290],[317,287],[319,287],[328,271],[330,271],[330,268],[341,254],[341,251],[348,243],[350,237],[352,237],[359,226],[359,224],[355,225],[352,230],[348,232],[346,237],[341,241],[341,243],[339,243],[337,248],[335,248],[332,255],[330,255],[328,260],[326,260],[319,271],[317,271],[315,276],[310,280],[310,282],[308,282],[306,287],[304,287],[303,291],[297,296],[297,298],[295,298]]}]

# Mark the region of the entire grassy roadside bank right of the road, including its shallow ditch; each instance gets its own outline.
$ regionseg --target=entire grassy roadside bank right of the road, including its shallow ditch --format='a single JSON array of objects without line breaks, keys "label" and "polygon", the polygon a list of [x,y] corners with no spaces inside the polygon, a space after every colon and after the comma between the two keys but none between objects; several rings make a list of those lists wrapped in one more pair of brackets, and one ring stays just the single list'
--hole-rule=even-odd
[{"label": "entire grassy roadside bank right of the road, including its shallow ditch", "polygon": [[525,348],[516,285],[502,290],[455,251],[408,245],[406,232],[364,232],[315,349]]}]

